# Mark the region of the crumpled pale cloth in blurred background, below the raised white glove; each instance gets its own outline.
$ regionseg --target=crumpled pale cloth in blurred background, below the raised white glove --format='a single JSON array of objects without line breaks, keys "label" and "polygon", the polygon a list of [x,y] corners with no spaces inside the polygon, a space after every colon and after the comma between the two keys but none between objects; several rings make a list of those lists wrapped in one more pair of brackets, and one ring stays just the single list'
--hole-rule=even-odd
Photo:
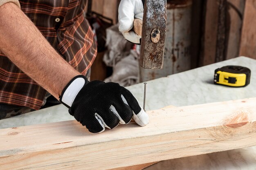
[{"label": "crumpled pale cloth in blurred background, below the raised white glove", "polygon": [[139,55],[131,50],[132,43],[124,39],[118,30],[118,24],[106,30],[106,46],[103,62],[113,67],[113,73],[105,82],[116,82],[121,86],[130,86],[138,82]]}]

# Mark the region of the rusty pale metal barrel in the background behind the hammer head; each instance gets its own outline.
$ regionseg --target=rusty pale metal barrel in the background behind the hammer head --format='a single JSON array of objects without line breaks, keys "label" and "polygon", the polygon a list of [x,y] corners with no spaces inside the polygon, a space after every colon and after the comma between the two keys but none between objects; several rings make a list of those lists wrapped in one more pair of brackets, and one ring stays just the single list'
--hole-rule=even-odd
[{"label": "rusty pale metal barrel in the background behind the hammer head", "polygon": [[192,0],[167,1],[164,68],[139,69],[139,80],[166,77],[191,69],[191,12]]}]

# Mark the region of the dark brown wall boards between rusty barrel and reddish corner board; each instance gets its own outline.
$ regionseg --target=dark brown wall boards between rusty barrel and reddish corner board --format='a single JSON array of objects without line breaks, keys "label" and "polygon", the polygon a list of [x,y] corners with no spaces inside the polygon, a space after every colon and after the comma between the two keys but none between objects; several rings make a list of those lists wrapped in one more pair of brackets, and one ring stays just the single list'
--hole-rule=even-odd
[{"label": "dark brown wall boards between rusty barrel and reddish corner board", "polygon": [[[224,30],[220,30],[220,27],[218,29],[218,24],[220,24],[219,13],[221,11],[220,2],[221,0],[205,0],[203,2],[204,12],[202,15],[202,34],[198,66],[218,62],[216,58],[219,57],[219,54],[216,51],[222,48],[222,44],[218,46],[218,36],[225,36],[224,57],[221,60],[231,59],[240,55],[239,48],[245,0],[224,0],[227,10],[225,13],[225,27],[222,28]],[[220,32],[224,32],[224,35],[220,35]]]}]

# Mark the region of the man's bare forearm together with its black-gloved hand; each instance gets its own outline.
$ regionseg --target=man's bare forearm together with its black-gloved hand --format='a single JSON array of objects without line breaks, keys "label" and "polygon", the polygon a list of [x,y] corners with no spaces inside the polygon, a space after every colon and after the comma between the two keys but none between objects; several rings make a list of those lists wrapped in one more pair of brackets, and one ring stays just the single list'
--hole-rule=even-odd
[{"label": "man's bare forearm together with its black-gloved hand", "polygon": [[148,124],[137,99],[117,83],[89,82],[52,48],[36,26],[9,2],[0,7],[0,50],[24,73],[69,108],[90,132],[103,132],[133,119]]}]

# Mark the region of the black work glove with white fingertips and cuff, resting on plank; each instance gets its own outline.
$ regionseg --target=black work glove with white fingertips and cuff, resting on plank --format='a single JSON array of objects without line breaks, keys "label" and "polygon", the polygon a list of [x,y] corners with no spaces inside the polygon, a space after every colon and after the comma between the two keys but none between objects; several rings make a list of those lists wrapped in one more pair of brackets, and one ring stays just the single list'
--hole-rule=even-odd
[{"label": "black work glove with white fingertips and cuff, resting on plank", "polygon": [[64,88],[60,101],[92,133],[115,128],[119,123],[128,124],[132,117],[140,126],[148,124],[148,115],[137,99],[117,83],[88,82],[79,75]]}]

